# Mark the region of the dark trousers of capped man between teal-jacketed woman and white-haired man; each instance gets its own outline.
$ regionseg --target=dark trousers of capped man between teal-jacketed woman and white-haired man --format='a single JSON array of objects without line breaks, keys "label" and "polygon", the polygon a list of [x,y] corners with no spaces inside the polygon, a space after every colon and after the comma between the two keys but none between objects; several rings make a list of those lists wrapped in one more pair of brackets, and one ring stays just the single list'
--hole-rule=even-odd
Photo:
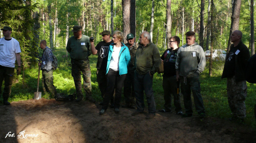
[{"label": "dark trousers of capped man between teal-jacketed woman and white-haired man", "polygon": [[135,92],[134,92],[134,69],[128,67],[128,73],[124,80],[123,92],[126,104],[135,105]]}]

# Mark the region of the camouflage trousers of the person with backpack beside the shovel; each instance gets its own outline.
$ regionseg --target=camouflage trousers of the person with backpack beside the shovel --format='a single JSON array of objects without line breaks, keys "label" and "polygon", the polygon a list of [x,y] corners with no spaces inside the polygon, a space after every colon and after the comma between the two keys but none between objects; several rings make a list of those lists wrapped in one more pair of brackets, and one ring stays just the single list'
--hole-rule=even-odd
[{"label": "camouflage trousers of the person with backpack beside the shovel", "polygon": [[42,76],[42,85],[43,85],[43,92],[49,92],[51,95],[57,95],[57,91],[55,86],[53,85],[53,70],[50,71],[43,71]]}]

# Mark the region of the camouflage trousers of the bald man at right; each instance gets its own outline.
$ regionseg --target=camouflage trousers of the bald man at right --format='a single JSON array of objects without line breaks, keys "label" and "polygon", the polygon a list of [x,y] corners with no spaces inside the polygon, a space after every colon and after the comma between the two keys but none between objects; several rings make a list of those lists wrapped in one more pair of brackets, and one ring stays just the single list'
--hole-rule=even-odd
[{"label": "camouflage trousers of the bald man at right", "polygon": [[246,81],[235,81],[235,76],[227,79],[228,104],[233,116],[246,117],[245,98],[247,96]]}]

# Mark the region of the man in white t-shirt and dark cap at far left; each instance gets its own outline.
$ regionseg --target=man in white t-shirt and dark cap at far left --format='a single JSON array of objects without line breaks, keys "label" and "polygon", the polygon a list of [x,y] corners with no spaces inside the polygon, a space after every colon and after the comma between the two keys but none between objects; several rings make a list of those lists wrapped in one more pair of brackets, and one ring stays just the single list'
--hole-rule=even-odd
[{"label": "man in white t-shirt and dark cap at far left", "polygon": [[5,88],[2,93],[3,104],[9,105],[8,98],[11,95],[15,60],[18,64],[17,75],[21,72],[21,48],[19,42],[11,37],[12,28],[5,26],[1,30],[4,37],[0,39],[0,93],[2,93],[2,82],[5,80]]}]

